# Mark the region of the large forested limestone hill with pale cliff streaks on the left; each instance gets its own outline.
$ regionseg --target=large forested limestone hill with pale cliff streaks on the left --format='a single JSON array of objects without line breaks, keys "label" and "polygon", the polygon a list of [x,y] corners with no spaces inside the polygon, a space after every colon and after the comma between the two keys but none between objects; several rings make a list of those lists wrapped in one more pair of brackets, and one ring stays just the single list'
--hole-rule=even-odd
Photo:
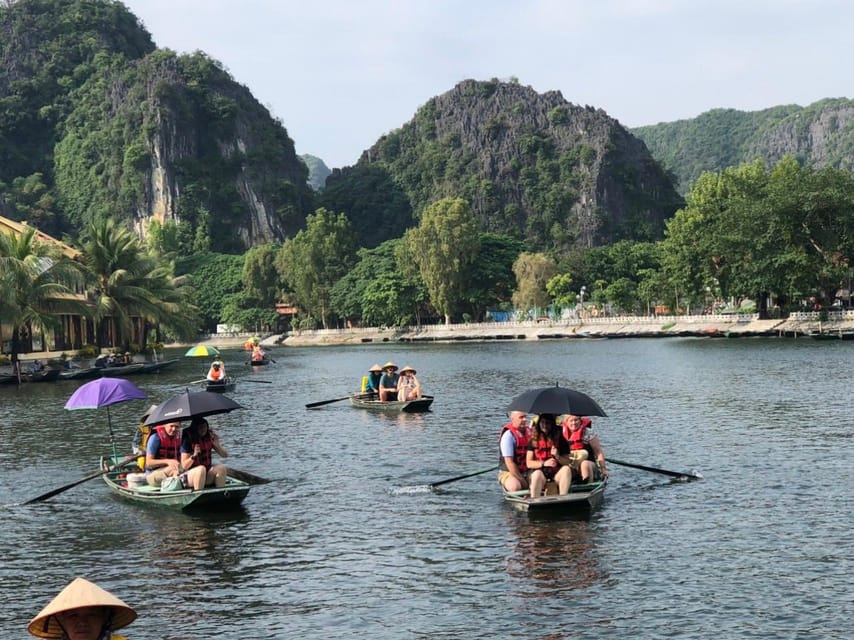
[{"label": "large forested limestone hill with pale cliff streaks on the left", "polygon": [[313,210],[287,131],[202,53],[156,50],[114,0],[0,6],[0,214],[54,235],[90,219],[182,250],[242,252]]}]

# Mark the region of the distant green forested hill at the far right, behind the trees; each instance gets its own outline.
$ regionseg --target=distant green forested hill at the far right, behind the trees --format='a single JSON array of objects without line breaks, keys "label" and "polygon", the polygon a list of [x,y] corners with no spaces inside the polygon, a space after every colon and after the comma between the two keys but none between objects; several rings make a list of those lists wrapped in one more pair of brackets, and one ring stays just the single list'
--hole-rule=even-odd
[{"label": "distant green forested hill at the far right, behind the trees", "polygon": [[854,168],[854,101],[821,100],[762,111],[714,109],[690,120],[632,129],[687,192],[703,171],[785,155],[815,166]]}]

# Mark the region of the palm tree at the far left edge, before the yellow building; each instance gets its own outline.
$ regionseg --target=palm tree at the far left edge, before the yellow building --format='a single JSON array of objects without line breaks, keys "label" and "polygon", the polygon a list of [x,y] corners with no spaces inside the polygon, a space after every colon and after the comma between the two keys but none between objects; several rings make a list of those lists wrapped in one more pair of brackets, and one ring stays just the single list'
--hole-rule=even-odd
[{"label": "palm tree at the far left edge, before the yellow building", "polygon": [[88,315],[85,302],[74,295],[74,285],[82,282],[79,266],[35,234],[35,227],[20,235],[0,234],[0,317],[12,325],[12,366],[19,380],[24,329],[59,328],[63,313]]}]

